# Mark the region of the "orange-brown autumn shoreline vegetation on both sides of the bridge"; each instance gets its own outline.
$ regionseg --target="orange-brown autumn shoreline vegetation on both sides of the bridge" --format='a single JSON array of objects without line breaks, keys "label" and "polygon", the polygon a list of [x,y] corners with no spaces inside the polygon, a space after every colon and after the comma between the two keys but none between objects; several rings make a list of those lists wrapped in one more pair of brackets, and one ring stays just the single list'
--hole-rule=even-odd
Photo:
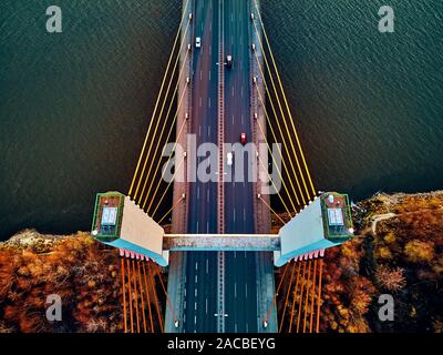
[{"label": "orange-brown autumn shoreline vegetation on both sides of the bridge", "polygon": [[[443,191],[378,193],[352,213],[356,237],[324,256],[320,332],[443,332]],[[280,225],[272,216],[271,232]],[[61,322],[44,316],[50,294]],[[394,300],[393,322],[379,320],[381,294]],[[0,243],[0,333],[122,332],[121,298],[117,251],[89,233],[25,230]]]}]

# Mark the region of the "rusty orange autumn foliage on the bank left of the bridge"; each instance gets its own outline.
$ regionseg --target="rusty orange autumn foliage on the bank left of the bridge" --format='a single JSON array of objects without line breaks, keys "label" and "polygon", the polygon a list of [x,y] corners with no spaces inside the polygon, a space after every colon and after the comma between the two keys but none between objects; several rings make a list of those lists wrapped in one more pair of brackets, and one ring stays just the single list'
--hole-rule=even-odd
[{"label": "rusty orange autumn foliage on the bank left of the bridge", "polygon": [[[0,247],[0,329],[122,331],[117,254],[87,234],[61,239],[50,253]],[[45,318],[47,296],[62,298],[62,322]]]}]

